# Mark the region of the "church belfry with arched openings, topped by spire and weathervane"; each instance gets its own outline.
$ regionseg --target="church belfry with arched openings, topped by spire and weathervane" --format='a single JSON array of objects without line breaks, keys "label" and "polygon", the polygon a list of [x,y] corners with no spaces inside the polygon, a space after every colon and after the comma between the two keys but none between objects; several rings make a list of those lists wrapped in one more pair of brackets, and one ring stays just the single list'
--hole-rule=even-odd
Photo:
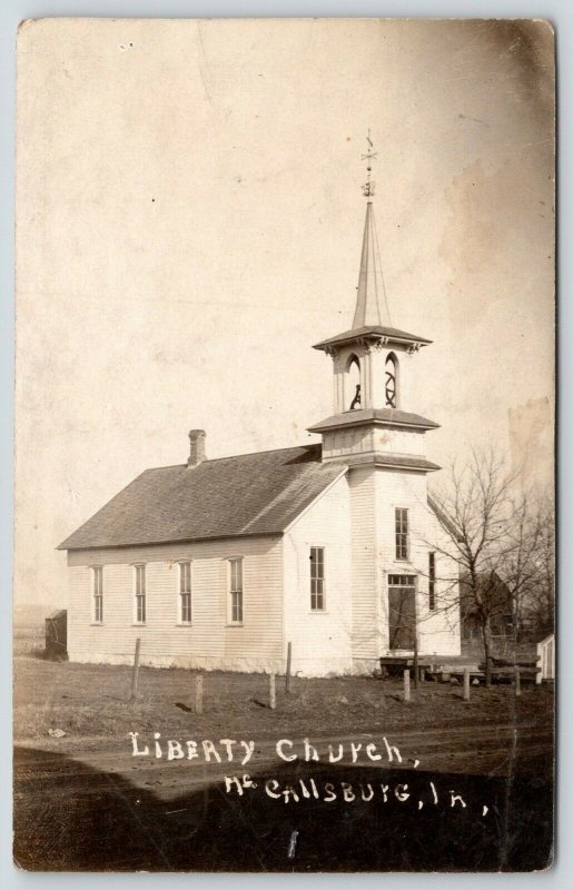
[{"label": "church belfry with arched openings, topped by spire and weathervane", "polygon": [[333,359],[334,414],[309,427],[323,437],[323,461],[438,469],[425,458],[425,433],[438,426],[411,412],[412,358],[432,340],[393,327],[374,218],[376,158],[368,134],[366,219],[356,309],[349,330],[317,343]]}]

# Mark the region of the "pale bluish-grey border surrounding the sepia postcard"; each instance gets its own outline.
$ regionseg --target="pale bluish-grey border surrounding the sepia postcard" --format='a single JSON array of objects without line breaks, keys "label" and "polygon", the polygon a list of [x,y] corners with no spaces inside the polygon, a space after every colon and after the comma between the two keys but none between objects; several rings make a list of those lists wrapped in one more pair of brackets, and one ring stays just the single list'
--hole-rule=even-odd
[{"label": "pale bluish-grey border surrounding the sepia postcard", "polygon": [[[142,17],[142,18],[199,18],[199,17],[296,17],[296,16],[352,16],[352,17],[429,17],[429,18],[546,18],[556,28],[557,71],[559,71],[559,239],[560,244],[573,240],[572,191],[573,170],[570,159],[573,156],[573,4],[571,0],[4,0],[0,4],[0,81],[2,90],[2,115],[0,126],[0,182],[3,200],[0,202],[0,491],[13,490],[12,472],[12,424],[13,424],[13,127],[14,127],[14,46],[16,29],[19,21],[41,17]],[[571,250],[561,251],[559,261],[560,295],[560,590],[559,623],[561,639],[565,641],[573,629],[573,603],[566,581],[573,576],[573,547],[567,545],[573,533],[572,504],[567,496],[572,490],[572,467],[563,457],[573,453],[571,403],[573,380],[573,358],[571,357],[570,335],[573,333],[573,258]],[[11,587],[13,511],[8,498],[2,500],[0,511],[0,560],[1,590],[6,599]],[[4,600],[6,602],[6,600]],[[2,661],[0,682],[0,712],[11,713],[11,622],[1,622],[0,652],[7,653]],[[17,872],[11,856],[11,726],[3,720],[0,732],[0,782],[3,800],[0,808],[0,882],[12,890],[33,890],[43,888],[89,888],[105,884],[107,888],[127,890],[134,881],[148,887],[167,886],[194,888],[207,887],[284,888],[293,880],[298,887],[319,884],[334,888],[378,888],[385,887],[431,888],[442,887],[444,882],[453,888],[520,888],[541,884],[542,887],[565,887],[573,878],[573,820],[571,794],[565,789],[573,779],[573,745],[571,740],[572,716],[567,704],[570,695],[564,691],[567,679],[573,675],[573,656],[570,645],[559,650],[560,674],[563,682],[559,695],[559,756],[560,793],[557,794],[557,859],[555,867],[543,874],[315,874],[315,876],[268,876],[268,874],[34,874]],[[567,741],[566,741],[567,740]]]}]

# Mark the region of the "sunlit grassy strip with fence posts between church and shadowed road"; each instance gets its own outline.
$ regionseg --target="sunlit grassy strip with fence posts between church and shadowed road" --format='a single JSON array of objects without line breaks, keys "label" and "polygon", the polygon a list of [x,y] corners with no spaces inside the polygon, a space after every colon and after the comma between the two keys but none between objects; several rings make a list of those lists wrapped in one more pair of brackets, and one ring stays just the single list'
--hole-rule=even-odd
[{"label": "sunlit grassy strip with fence posts between church and shadowed road", "polygon": [[141,668],[139,701],[129,702],[131,669],[100,664],[53,663],[29,656],[14,660],[14,738],[48,739],[61,729],[73,739],[119,738],[129,730],[170,733],[327,734],[375,732],[408,726],[457,726],[505,721],[546,722],[552,691],[523,684],[472,688],[470,702],[460,685],[425,682],[403,701],[397,680],[375,678],[294,678],[290,692],[277,678],[277,708],[268,708],[268,676],[213,672],[204,675],[204,713],[194,711],[195,674],[185,670]]}]

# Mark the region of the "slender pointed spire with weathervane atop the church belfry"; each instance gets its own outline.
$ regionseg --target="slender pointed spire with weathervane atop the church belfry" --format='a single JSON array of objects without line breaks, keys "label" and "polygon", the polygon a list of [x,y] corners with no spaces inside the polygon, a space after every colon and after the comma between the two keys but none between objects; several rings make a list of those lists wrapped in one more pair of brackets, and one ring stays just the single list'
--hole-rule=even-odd
[{"label": "slender pointed spire with weathervane atop the church belfry", "polygon": [[[366,155],[362,156],[363,160],[366,161],[366,182],[363,186],[363,192],[367,199],[366,220],[364,224],[358,293],[356,296],[353,329],[376,325],[389,326],[392,324],[384,289],[384,278],[382,275],[378,239],[376,236],[376,224],[374,221],[374,208],[372,204],[375,190],[375,184],[372,179],[372,161],[376,158],[377,152],[373,151],[374,145],[371,139],[369,130],[367,142],[368,150]],[[381,304],[383,314],[381,313]]]}]

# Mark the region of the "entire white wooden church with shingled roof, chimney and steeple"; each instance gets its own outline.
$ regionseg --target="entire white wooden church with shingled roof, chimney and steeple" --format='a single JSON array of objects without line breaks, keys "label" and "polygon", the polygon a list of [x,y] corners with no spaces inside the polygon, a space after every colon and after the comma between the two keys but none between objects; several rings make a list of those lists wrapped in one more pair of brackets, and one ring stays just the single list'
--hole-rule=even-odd
[{"label": "entire white wooden church with shingled roof, chimney and steeple", "polygon": [[[372,673],[384,655],[460,654],[452,567],[427,495],[426,433],[412,413],[429,340],[391,326],[372,204],[349,330],[332,358],[332,416],[316,444],[147,469],[73,532],[71,661],[302,675]],[[381,313],[383,303],[384,315]],[[447,578],[447,581],[442,581]],[[416,639],[417,637],[417,639]]]}]

